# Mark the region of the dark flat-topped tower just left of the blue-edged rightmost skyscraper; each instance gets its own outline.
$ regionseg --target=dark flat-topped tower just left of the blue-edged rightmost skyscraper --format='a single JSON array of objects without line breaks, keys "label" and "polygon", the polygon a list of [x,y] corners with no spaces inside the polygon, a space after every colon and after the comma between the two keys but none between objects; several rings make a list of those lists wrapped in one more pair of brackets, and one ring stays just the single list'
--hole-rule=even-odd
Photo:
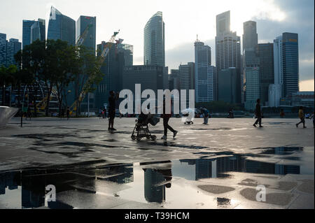
[{"label": "dark flat-topped tower just left of the blue-edged rightmost skyscraper", "polygon": [[274,83],[274,44],[258,44],[258,57],[260,63],[260,103],[267,106],[267,103],[269,101],[269,85],[272,85]]}]

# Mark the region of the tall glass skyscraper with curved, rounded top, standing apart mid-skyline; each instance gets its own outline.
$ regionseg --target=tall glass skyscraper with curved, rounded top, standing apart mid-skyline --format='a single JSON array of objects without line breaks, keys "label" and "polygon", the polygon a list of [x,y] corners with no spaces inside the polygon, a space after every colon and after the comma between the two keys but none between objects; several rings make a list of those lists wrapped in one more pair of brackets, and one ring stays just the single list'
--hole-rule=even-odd
[{"label": "tall glass skyscraper with curved, rounded top, standing apart mid-skyline", "polygon": [[144,27],[144,65],[165,66],[165,23],[155,13]]}]

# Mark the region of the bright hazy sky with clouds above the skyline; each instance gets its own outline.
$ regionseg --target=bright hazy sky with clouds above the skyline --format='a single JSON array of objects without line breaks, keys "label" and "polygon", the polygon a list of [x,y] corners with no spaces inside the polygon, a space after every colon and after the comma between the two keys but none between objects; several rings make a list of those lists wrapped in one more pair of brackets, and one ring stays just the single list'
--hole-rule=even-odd
[{"label": "bright hazy sky with clouds above the skyline", "polygon": [[22,41],[22,20],[46,19],[50,6],[77,20],[97,17],[97,44],[120,29],[119,38],[134,45],[134,64],[143,64],[144,26],[157,11],[165,22],[166,66],[194,62],[196,35],[211,47],[215,65],[216,15],[231,12],[231,29],[243,34],[243,22],[257,22],[259,43],[272,43],[284,31],[299,34],[300,90],[314,91],[313,0],[10,0],[1,1],[0,33]]}]

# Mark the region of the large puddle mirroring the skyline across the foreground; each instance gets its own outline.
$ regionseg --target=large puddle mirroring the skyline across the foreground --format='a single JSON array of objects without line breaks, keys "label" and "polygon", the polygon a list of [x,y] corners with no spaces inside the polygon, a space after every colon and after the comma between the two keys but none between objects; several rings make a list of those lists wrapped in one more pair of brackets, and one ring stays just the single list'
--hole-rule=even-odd
[{"label": "large puddle mirroring the skyline across the foreground", "polygon": [[[294,152],[300,154],[300,159],[305,155],[309,156],[309,153],[304,154],[305,150],[302,148],[255,150],[258,149],[262,150],[262,154],[286,156]],[[243,202],[226,196],[237,189],[235,185],[230,185],[231,180],[235,180],[235,175],[254,173],[252,175],[254,178],[257,177],[257,173],[263,173],[267,176],[261,178],[267,180],[276,180],[277,176],[286,174],[314,175],[314,148],[309,148],[306,152],[311,152],[313,159],[305,162],[307,164],[302,162],[300,165],[255,161],[248,159],[247,154],[245,156],[230,152],[219,154],[219,157],[218,154],[216,157],[204,156],[203,159],[116,164],[98,168],[60,166],[55,169],[0,173],[0,208],[42,208],[45,206],[47,185],[54,185],[57,192],[57,201],[48,202],[48,208],[52,209],[97,208],[98,206],[102,208],[97,196],[110,197],[113,203],[123,199],[123,201],[151,203],[156,207],[164,208],[234,208]],[[211,179],[225,180],[226,183],[225,185],[207,184],[209,180],[212,182]],[[253,180],[245,179],[245,181],[247,185],[244,185],[244,180],[238,185],[251,187],[248,183]],[[293,184],[292,188],[295,186]],[[247,191],[242,191],[245,192]],[[69,193],[72,194],[70,197]],[[80,201],[82,194],[91,200],[83,202],[81,204],[83,206],[78,207],[78,203],[82,203]]]}]

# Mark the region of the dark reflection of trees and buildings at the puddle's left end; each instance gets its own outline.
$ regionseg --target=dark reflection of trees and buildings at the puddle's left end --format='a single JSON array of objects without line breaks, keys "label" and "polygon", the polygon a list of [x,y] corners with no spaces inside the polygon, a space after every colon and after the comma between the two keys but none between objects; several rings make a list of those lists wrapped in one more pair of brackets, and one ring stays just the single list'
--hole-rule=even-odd
[{"label": "dark reflection of trees and buildings at the puddle's left end", "polygon": [[[109,166],[90,171],[59,172],[23,171],[0,173],[0,196],[6,189],[20,193],[20,208],[39,208],[45,206],[45,187],[54,185],[56,192],[74,188],[95,188],[95,177],[105,176],[104,180],[125,184],[133,182],[133,165]],[[20,189],[20,191],[18,191]],[[0,197],[1,198],[1,197]],[[64,203],[48,202],[48,208],[72,208]]]}]

